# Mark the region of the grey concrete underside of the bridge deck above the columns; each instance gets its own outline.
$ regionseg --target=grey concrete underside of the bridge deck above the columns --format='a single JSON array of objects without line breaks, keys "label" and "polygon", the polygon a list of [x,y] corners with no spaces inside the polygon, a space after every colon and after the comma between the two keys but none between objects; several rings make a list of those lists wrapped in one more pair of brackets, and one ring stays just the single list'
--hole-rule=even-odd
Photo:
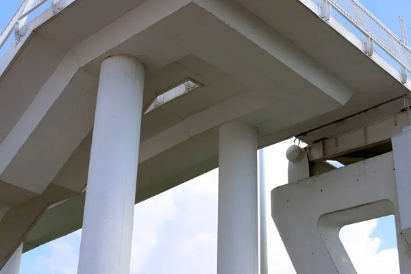
[{"label": "grey concrete underside of the bridge deck above the columns", "polygon": [[[136,202],[219,166],[225,123],[250,125],[261,148],[408,93],[393,66],[316,9],[289,0],[77,0],[31,21],[0,61],[0,266],[21,242],[27,251],[82,227],[110,56],[145,66]],[[189,79],[199,87],[146,112]]]}]

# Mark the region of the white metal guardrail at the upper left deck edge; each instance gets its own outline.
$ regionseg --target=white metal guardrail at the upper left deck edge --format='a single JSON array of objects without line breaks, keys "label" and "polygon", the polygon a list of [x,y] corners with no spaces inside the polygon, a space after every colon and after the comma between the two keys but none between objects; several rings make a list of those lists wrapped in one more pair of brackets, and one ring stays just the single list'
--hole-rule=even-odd
[{"label": "white metal guardrail at the upper left deck edge", "polygon": [[[25,21],[27,16],[37,10],[42,4],[46,3],[49,0],[24,0],[18,7],[16,13],[10,20],[10,22],[5,26],[3,32],[0,34],[0,50],[7,42],[8,38],[14,33],[14,38],[16,42],[20,40],[20,37],[25,35],[26,25]],[[53,12],[58,12],[63,8],[64,0],[51,0],[51,7]]]}]

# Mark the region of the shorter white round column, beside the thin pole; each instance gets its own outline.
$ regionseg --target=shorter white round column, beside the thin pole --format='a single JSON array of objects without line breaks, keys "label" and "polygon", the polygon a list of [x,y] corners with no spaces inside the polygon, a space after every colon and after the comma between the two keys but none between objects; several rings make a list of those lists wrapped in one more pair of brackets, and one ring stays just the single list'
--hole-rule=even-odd
[{"label": "shorter white round column, beside the thin pole", "polygon": [[246,123],[220,128],[217,273],[258,273],[257,135]]}]

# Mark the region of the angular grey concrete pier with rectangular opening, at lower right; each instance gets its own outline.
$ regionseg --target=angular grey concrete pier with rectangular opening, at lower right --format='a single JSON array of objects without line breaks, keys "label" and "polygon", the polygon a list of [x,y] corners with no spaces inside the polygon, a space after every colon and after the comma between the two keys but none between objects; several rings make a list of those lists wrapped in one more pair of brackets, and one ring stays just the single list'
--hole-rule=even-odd
[{"label": "angular grey concrete pier with rectangular opening, at lower right", "polygon": [[271,192],[271,213],[297,273],[356,273],[340,229],[390,214],[399,269],[411,273],[411,127],[391,143],[391,152],[311,177],[305,151],[288,149],[290,184]]}]

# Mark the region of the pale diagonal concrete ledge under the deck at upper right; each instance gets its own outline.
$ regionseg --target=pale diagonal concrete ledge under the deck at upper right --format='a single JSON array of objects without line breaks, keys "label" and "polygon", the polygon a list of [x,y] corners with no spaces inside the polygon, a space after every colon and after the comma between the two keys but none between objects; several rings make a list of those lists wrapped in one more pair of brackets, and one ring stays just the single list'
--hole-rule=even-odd
[{"label": "pale diagonal concrete ledge under the deck at upper right", "polygon": [[[340,105],[345,105],[356,93],[352,86],[240,5],[223,0],[194,0],[193,2],[245,36],[254,45],[269,53],[307,82],[325,92]],[[275,77],[275,72],[266,71],[264,73],[271,79],[275,79],[277,83],[281,83],[281,79]]]}]

